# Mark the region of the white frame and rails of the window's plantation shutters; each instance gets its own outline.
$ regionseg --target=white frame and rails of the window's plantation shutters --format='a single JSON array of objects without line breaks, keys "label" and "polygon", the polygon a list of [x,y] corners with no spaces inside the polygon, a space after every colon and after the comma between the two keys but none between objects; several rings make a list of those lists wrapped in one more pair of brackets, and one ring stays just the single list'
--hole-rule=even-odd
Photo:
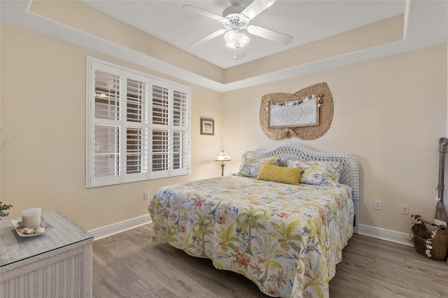
[{"label": "white frame and rails of the window's plantation shutters", "polygon": [[[108,176],[108,177],[95,177],[94,176],[94,126],[95,123],[101,122],[99,119],[94,118],[94,108],[95,108],[95,78],[94,78],[94,69],[99,68],[102,69],[102,71],[110,71],[110,73],[116,74],[120,76],[120,83],[123,85],[123,82],[127,82],[128,78],[141,80],[142,77],[146,78],[146,94],[147,94],[147,104],[146,108],[148,108],[148,121],[146,125],[146,129],[148,130],[147,138],[147,159],[148,159],[148,169],[146,173],[132,173],[127,174],[126,173],[126,166],[125,166],[125,158],[123,158],[123,155],[126,153],[126,141],[121,142],[121,155],[122,158],[120,159],[121,164],[121,174],[118,176]],[[152,168],[152,146],[153,146],[153,129],[158,128],[158,125],[153,124],[153,113],[152,113],[152,106],[153,106],[153,85],[163,85],[163,87],[167,87],[169,90],[168,98],[169,98],[169,125],[163,125],[160,127],[161,129],[168,129],[169,130],[169,158],[168,158],[168,169],[165,171],[153,171]],[[124,83],[126,85],[126,83]],[[182,127],[179,129],[179,127],[174,126],[173,123],[173,102],[174,102],[174,91],[176,92],[183,92],[186,94],[186,108],[187,108],[187,115],[186,115],[186,125],[185,127]],[[123,97],[123,94],[126,94],[126,90],[120,91],[120,100]],[[125,96],[125,95],[124,95]],[[121,183],[130,183],[130,182],[136,182],[141,180],[151,180],[155,178],[167,178],[172,176],[182,176],[187,175],[190,173],[190,106],[191,106],[191,97],[190,97],[190,87],[186,85],[177,84],[174,82],[171,82],[169,80],[165,80],[162,78],[158,78],[155,76],[148,75],[147,73],[141,73],[139,71],[135,71],[133,69],[127,69],[123,66],[119,66],[116,64],[112,64],[109,62],[104,62],[102,60],[88,57],[86,59],[86,146],[85,146],[85,156],[86,156],[86,187],[99,187],[99,186],[105,186],[105,185],[116,185]],[[124,108],[121,108],[122,113],[125,110]],[[129,127],[129,125],[125,124],[124,117],[120,118],[120,130],[122,130],[125,127]],[[137,125],[139,126],[139,125]],[[185,149],[185,167],[181,167],[181,169],[174,169],[174,142],[173,142],[173,129],[176,129],[176,131],[183,131],[186,135],[186,144],[183,146]],[[124,149],[124,150],[123,150]]]}]

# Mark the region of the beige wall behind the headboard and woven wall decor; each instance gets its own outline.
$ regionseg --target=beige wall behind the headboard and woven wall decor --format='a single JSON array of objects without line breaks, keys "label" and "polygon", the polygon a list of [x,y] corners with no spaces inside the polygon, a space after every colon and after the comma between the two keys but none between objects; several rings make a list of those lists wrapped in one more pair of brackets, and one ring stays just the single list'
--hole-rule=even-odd
[{"label": "beige wall behind the headboard and woven wall decor", "polygon": [[[262,95],[320,82],[328,83],[335,104],[328,132],[314,141],[269,140],[258,121]],[[446,45],[223,94],[223,147],[232,157],[283,143],[349,152],[360,163],[360,224],[399,232],[409,232],[411,213],[433,219],[437,144],[446,127]],[[228,171],[238,169],[233,160]],[[373,209],[374,200],[382,211]],[[401,204],[409,215],[400,214]]]}]

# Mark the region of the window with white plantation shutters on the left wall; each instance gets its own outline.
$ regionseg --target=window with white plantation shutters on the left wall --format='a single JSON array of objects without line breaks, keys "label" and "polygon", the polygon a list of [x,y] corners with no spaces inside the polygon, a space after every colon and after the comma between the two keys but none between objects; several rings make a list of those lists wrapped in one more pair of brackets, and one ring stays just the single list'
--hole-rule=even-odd
[{"label": "window with white plantation shutters on the left wall", "polygon": [[190,89],[87,57],[87,187],[190,173]]}]

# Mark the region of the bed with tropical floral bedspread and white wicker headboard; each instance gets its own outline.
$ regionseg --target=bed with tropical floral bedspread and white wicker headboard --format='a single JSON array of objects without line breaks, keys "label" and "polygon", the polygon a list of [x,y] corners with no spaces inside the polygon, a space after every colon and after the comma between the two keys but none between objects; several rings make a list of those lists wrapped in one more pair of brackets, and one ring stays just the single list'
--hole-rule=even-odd
[{"label": "bed with tropical floral bedspread and white wicker headboard", "polygon": [[[269,178],[297,166],[300,183]],[[297,144],[248,151],[235,175],[158,190],[148,206],[153,241],[242,274],[272,297],[328,297],[342,248],[357,232],[358,173],[346,153]]]}]

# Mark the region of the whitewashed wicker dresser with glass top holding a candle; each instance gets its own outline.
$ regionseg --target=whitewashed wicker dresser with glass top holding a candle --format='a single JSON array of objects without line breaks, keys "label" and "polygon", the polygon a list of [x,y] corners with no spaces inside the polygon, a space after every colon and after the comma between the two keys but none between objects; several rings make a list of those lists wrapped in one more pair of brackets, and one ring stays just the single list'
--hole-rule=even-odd
[{"label": "whitewashed wicker dresser with glass top holding a candle", "polygon": [[59,211],[42,218],[52,229],[33,237],[0,220],[0,297],[92,297],[93,236]]}]

